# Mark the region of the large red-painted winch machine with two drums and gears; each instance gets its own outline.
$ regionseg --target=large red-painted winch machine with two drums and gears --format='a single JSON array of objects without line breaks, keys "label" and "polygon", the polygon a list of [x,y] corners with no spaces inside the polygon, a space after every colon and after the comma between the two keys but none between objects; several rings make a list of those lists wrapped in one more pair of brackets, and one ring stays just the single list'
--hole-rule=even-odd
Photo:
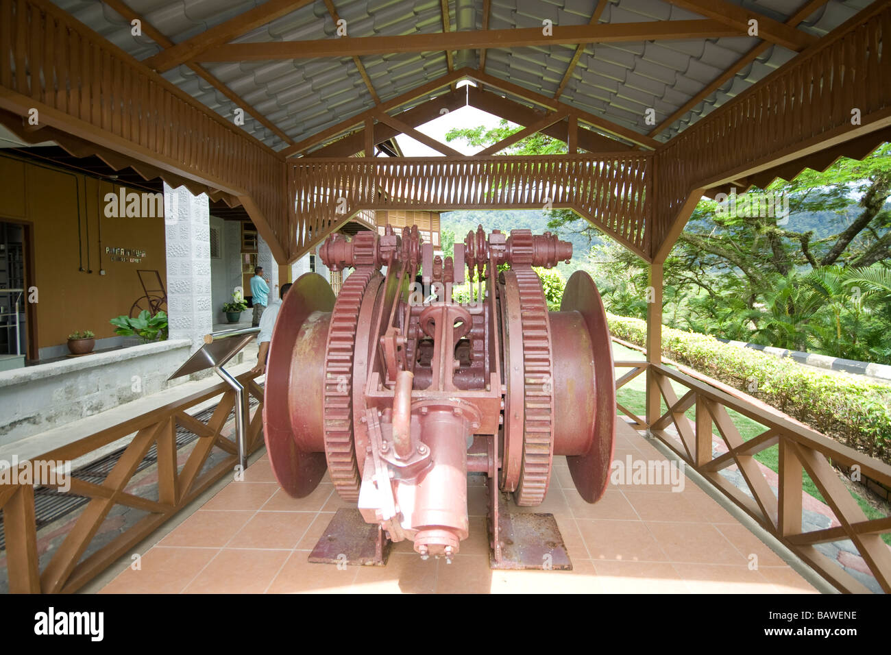
[{"label": "large red-painted winch machine with two drums and gears", "polygon": [[402,540],[451,561],[469,535],[468,485],[485,479],[492,566],[571,568],[552,515],[511,512],[510,495],[541,504],[555,456],[588,503],[609,479],[616,394],[600,294],[577,271],[549,311],[533,269],[568,261],[572,245],[479,227],[444,260],[416,228],[388,227],[334,234],[319,255],[353,270],[336,298],[315,273],[286,295],[263,415],[288,494],[310,494],[327,470],[357,504],[310,561],[382,564]]}]

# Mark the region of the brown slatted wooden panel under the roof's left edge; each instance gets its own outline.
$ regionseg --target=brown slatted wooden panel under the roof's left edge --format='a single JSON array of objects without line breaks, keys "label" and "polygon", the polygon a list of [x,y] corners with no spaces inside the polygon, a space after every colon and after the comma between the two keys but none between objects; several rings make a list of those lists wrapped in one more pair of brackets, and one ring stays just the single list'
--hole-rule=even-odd
[{"label": "brown slatted wooden panel under the roof's left edge", "polygon": [[246,199],[288,242],[283,158],[52,4],[0,0],[0,108]]}]

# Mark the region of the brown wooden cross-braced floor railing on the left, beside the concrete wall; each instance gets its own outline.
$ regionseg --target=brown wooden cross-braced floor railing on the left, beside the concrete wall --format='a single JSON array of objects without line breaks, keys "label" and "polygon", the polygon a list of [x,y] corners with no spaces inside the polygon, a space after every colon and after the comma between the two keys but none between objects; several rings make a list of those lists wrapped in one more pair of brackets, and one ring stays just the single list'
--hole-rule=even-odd
[{"label": "brown wooden cross-braced floor railing on the left, beside the concrete wall", "polygon": [[[257,386],[254,377],[253,373],[244,373],[238,378],[249,396],[259,401],[249,420],[248,452],[253,452],[263,443],[263,389]],[[190,407],[220,395],[222,397],[208,422],[200,422],[186,413]],[[135,433],[135,437],[120,454],[117,463],[101,484],[79,479],[76,477],[77,471],[72,471],[67,493],[86,496],[90,500],[42,572],[38,565],[34,485],[0,484],[0,509],[4,513],[6,569],[10,591],[31,594],[77,591],[217,480],[225,475],[233,475],[235,464],[238,463],[237,446],[232,438],[224,435],[224,428],[234,403],[234,391],[225,382],[220,382],[190,397],[78,439],[27,463],[20,463],[19,468],[23,470],[38,462],[72,462]],[[198,435],[198,439],[192,441],[194,446],[191,452],[184,457],[181,470],[178,470],[177,462],[177,424]],[[231,427],[231,423],[229,426]],[[157,453],[157,501],[127,491],[135,471],[151,446],[156,446]],[[214,448],[225,453],[225,457],[205,471],[205,463]],[[11,475],[10,479],[24,478]],[[149,513],[127,527],[110,543],[102,545],[84,558],[102,527],[102,522],[117,504]]]}]

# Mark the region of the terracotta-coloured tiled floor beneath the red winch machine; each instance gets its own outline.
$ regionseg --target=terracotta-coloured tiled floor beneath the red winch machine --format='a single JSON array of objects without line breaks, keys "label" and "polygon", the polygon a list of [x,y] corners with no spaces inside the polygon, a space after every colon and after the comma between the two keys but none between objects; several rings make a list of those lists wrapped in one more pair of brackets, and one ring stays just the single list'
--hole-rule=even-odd
[{"label": "terracotta-coloured tiled floor beneath the red winch machine", "polygon": [[[615,458],[664,461],[637,432],[619,425]],[[488,567],[485,487],[469,490],[470,538],[453,563],[421,561],[394,544],[384,568],[310,564],[307,556],[339,507],[326,479],[294,500],[275,482],[264,455],[244,482],[224,487],[103,593],[815,593],[765,544],[689,479],[670,485],[610,485],[600,503],[576,493],[556,459],[544,504],[552,512],[572,571]],[[634,480],[632,480],[634,481]]]}]

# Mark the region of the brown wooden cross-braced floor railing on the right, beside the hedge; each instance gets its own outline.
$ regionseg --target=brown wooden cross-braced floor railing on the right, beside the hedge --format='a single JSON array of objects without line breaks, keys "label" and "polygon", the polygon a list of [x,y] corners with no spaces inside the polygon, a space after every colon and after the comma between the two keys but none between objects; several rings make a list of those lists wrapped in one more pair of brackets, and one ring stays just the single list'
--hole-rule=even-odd
[{"label": "brown wooden cross-braced floor railing on the right, beside the hedge", "polygon": [[[891,517],[867,519],[830,463],[857,467],[855,470],[864,478],[885,485],[891,484],[891,467],[793,422],[782,413],[756,405],[735,390],[721,389],[706,379],[698,379],[699,375],[694,378],[664,364],[644,361],[616,362],[615,365],[617,373],[625,368],[631,369],[617,378],[617,389],[646,372],[655,382],[667,407],[666,413],[648,425],[640,416],[618,405],[619,411],[634,422],[634,427],[649,429],[652,436],[671,448],[684,463],[698,471],[839,590],[852,593],[869,591],[838,562],[820,553],[814,547],[816,544],[850,539],[880,587],[886,593],[891,591],[891,548],[881,536],[891,533]],[[680,398],[675,393],[673,383],[685,389]],[[686,415],[691,410],[695,412],[694,419]],[[754,438],[743,440],[728,410],[764,426],[764,431]],[[723,454],[715,454],[713,450],[715,429],[727,446],[727,452]],[[776,445],[779,445],[780,465],[778,493],[775,494],[755,455]],[[721,475],[720,471],[732,465],[738,467],[751,496]],[[835,514],[840,524],[837,527],[811,531],[803,529],[803,470],[807,471]]]}]

